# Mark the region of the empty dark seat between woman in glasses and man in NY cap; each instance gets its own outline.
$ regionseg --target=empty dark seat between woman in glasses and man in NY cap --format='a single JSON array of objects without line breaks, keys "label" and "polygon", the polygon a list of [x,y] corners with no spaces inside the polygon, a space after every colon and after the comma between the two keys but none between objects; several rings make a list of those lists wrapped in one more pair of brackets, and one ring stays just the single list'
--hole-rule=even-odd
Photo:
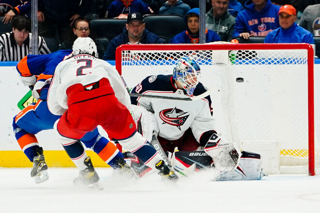
[{"label": "empty dark seat between woman in glasses and man in NY cap", "polygon": [[127,19],[97,18],[90,21],[91,28],[99,37],[106,37],[110,41],[123,32]]}]

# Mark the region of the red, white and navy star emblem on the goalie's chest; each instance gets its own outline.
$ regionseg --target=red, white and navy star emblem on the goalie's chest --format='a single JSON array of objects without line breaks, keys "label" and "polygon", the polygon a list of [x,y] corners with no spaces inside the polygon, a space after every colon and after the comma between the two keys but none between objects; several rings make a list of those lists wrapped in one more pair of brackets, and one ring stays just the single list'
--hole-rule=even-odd
[{"label": "red, white and navy star emblem on the goalie's chest", "polygon": [[162,124],[168,123],[170,125],[176,126],[181,130],[182,126],[188,119],[189,115],[186,115],[188,112],[184,112],[181,109],[170,108],[163,109],[159,112],[159,117],[163,121]]}]

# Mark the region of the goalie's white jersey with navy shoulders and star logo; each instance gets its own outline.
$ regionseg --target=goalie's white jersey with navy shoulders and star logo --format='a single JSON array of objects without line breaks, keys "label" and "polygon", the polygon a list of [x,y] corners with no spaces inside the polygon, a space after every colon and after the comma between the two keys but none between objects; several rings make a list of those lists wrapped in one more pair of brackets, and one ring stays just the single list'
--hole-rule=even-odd
[{"label": "goalie's white jersey with navy shoulders and star logo", "polygon": [[[194,95],[207,91],[199,83]],[[187,97],[183,90],[177,89],[172,75],[148,76],[138,84],[131,93],[161,95],[170,97]],[[175,140],[183,136],[191,127],[193,136],[199,142],[201,135],[214,130],[211,99],[209,96],[196,101],[168,100],[146,97],[130,97],[131,104],[143,106],[153,111],[159,125],[159,136]]]}]

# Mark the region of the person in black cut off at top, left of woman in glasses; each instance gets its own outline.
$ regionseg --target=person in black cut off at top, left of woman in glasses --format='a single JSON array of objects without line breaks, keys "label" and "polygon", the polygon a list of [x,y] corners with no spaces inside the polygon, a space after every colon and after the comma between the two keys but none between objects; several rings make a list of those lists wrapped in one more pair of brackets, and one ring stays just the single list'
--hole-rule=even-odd
[{"label": "person in black cut off at top, left of woman in glasses", "polygon": [[58,31],[60,43],[68,39],[70,27],[90,9],[91,0],[38,0],[39,35],[55,37]]}]

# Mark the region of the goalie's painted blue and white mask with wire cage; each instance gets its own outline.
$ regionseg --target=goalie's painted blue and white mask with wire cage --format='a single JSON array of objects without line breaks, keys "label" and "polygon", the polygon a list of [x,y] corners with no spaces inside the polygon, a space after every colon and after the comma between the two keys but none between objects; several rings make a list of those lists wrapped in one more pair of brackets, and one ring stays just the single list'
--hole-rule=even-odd
[{"label": "goalie's painted blue and white mask with wire cage", "polygon": [[192,95],[200,81],[200,66],[189,57],[182,57],[174,68],[173,78],[178,81],[187,94]]}]

